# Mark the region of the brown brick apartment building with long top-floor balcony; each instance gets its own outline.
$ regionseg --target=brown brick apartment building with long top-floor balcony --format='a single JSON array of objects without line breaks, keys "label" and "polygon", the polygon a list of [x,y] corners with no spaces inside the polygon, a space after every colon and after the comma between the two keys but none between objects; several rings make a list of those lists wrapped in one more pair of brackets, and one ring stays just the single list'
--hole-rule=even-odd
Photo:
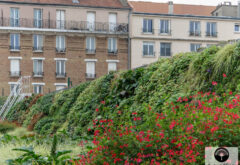
[{"label": "brown brick apartment building with long top-floor balcony", "polygon": [[21,76],[33,93],[128,68],[125,0],[0,0],[0,90]]}]

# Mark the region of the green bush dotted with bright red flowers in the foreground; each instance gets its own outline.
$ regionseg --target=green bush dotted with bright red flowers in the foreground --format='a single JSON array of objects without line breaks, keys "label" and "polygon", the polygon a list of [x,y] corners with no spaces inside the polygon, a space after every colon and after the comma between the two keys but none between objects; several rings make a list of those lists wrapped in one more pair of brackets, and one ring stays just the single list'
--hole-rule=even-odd
[{"label": "green bush dotted with bright red flowers in the foreground", "polygon": [[[240,95],[201,93],[94,120],[94,148],[78,164],[204,164],[208,146],[240,146]],[[96,110],[110,111],[102,107]],[[157,112],[159,111],[159,112]]]}]

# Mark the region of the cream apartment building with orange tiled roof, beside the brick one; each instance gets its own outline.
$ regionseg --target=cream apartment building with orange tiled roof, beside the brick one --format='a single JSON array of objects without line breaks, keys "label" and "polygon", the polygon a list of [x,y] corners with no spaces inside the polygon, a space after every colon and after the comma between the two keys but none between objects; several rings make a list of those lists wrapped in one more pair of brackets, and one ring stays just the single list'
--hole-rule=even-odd
[{"label": "cream apartment building with orange tiled roof, beside the brick one", "polygon": [[240,19],[216,6],[130,1],[131,67],[240,38]]}]

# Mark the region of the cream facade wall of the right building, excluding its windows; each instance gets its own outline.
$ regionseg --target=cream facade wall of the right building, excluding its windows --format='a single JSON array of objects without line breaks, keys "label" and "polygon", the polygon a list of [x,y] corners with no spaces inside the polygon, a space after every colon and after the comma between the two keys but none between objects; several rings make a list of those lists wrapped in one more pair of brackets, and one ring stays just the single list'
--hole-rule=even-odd
[{"label": "cream facade wall of the right building, excluding its windows", "polygon": [[[154,34],[142,33],[143,18],[153,19]],[[159,34],[160,19],[168,19],[171,22],[171,34]],[[201,36],[189,35],[189,22],[201,22]],[[206,23],[217,23],[217,37],[206,36]],[[240,20],[206,19],[206,18],[187,18],[176,16],[147,16],[133,14],[131,16],[130,37],[131,37],[131,67],[136,68],[158,60],[160,56],[160,42],[171,43],[172,54],[189,52],[191,43],[202,44],[202,47],[208,44],[217,44],[222,41],[239,39],[240,33],[234,31],[234,25],[240,23]],[[143,42],[155,42],[155,57],[143,57]]]}]

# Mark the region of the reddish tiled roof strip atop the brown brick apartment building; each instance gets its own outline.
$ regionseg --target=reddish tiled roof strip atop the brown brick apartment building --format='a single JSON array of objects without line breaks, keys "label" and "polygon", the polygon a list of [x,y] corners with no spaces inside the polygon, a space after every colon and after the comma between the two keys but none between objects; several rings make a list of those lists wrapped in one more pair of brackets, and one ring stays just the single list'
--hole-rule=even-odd
[{"label": "reddish tiled roof strip atop the brown brick apartment building", "polygon": [[[70,5],[70,6],[90,6],[107,8],[130,8],[121,3],[121,0],[0,0],[0,3],[27,3],[44,5]],[[79,3],[74,3],[79,2]]]}]

